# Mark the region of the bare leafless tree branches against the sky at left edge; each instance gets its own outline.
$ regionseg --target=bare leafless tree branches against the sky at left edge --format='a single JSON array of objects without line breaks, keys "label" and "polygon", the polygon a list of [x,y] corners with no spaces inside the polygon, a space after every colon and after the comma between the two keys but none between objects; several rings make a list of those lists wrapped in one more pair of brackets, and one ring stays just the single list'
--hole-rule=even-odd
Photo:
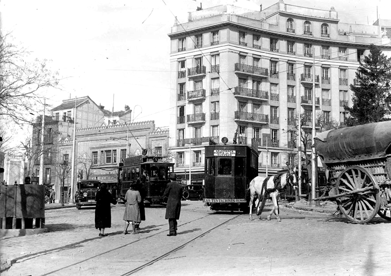
[{"label": "bare leafless tree branches against the sky at left edge", "polygon": [[25,115],[36,113],[43,104],[43,88],[58,84],[57,73],[47,68],[47,61],[26,62],[28,53],[0,37],[0,117],[15,123],[28,122]]}]

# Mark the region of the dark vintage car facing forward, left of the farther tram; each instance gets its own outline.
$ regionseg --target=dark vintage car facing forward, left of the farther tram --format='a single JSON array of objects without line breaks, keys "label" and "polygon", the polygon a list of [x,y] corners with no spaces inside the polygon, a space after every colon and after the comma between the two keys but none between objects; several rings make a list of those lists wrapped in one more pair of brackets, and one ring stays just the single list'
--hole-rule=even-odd
[{"label": "dark vintage car facing forward, left of the farther tram", "polygon": [[96,192],[99,190],[101,182],[99,180],[80,180],[77,182],[77,191],[75,194],[76,208],[81,209],[82,206],[95,206]]}]

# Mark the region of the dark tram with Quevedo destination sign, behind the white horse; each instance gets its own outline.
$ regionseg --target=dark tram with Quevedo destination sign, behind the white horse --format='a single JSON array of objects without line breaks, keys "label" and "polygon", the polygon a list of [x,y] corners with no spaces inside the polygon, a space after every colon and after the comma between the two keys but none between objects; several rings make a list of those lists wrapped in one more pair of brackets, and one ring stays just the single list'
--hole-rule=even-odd
[{"label": "dark tram with Quevedo destination sign, behind the white horse", "polygon": [[248,212],[250,181],[258,175],[258,145],[205,146],[205,192],[203,202],[211,210]]}]

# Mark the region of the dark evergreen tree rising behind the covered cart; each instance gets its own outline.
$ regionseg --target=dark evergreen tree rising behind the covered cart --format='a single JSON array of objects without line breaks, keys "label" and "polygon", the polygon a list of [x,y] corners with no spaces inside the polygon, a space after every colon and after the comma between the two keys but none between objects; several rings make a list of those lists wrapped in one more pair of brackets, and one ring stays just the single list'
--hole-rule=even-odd
[{"label": "dark evergreen tree rising behind the covered cart", "polygon": [[369,50],[357,69],[356,85],[350,85],[353,106],[345,106],[350,115],[347,126],[388,120],[386,117],[390,115],[391,58],[373,44]]}]

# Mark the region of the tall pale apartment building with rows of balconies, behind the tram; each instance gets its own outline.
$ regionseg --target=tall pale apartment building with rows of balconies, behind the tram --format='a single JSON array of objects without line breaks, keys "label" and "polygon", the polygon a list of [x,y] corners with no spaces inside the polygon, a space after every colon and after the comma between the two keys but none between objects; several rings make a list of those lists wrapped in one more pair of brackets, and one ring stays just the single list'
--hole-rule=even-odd
[{"label": "tall pale apartment building with rows of balconies, behind the tram", "polygon": [[303,130],[311,133],[313,95],[317,114],[343,123],[369,45],[391,52],[384,28],[342,23],[333,7],[282,0],[258,11],[220,5],[190,12],[169,37],[170,147],[176,172],[185,178],[191,171],[192,182],[203,179],[205,145],[224,136],[232,143],[235,132],[239,143],[257,140],[260,175],[297,165],[295,118],[305,114]]}]

